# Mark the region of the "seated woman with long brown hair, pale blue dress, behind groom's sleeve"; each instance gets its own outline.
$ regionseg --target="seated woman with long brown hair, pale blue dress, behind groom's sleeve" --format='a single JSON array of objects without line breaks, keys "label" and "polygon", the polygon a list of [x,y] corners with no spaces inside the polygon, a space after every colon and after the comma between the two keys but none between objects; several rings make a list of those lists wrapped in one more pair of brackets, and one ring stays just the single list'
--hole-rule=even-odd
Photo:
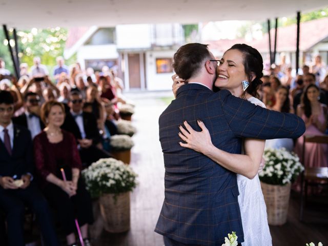
[{"label": "seated woman with long brown hair, pale blue dress, behind groom's sleeve", "polygon": [[[285,86],[280,86],[275,93],[276,103],[274,106],[269,107],[269,109],[282,112],[282,113],[293,113],[291,108],[289,90]],[[279,139],[269,139],[265,141],[265,148],[286,148],[289,151],[294,149],[294,141],[292,138],[279,138]]]}]

